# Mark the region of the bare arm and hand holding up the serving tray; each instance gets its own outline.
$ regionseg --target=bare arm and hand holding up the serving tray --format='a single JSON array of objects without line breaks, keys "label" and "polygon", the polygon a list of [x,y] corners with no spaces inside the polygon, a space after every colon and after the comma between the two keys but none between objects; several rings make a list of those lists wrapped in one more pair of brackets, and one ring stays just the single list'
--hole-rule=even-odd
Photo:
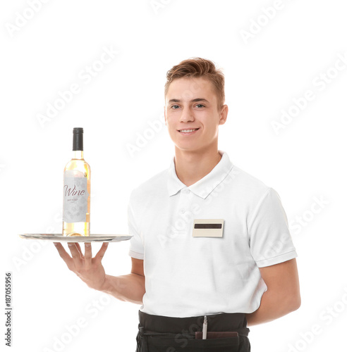
[{"label": "bare arm and hand holding up the serving tray", "polygon": [[130,274],[111,276],[106,275],[102,266],[102,258],[108,246],[107,242],[102,244],[95,258],[92,258],[92,246],[89,243],[85,243],[84,255],[78,243],[68,244],[72,258],[62,244],[54,243],[54,245],[68,268],[75,272],[91,289],[106,292],[121,301],[142,303],[142,297],[145,294],[143,260],[131,258],[132,269]]}]

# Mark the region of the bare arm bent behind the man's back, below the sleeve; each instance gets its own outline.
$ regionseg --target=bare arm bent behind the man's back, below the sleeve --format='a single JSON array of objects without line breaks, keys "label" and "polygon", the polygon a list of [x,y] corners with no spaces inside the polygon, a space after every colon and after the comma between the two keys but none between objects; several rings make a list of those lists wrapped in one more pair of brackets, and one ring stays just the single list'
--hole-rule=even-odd
[{"label": "bare arm bent behind the man's back, below the sleeve", "polygon": [[300,288],[296,259],[260,268],[267,291],[262,295],[260,307],[246,314],[248,325],[270,322],[300,307]]}]

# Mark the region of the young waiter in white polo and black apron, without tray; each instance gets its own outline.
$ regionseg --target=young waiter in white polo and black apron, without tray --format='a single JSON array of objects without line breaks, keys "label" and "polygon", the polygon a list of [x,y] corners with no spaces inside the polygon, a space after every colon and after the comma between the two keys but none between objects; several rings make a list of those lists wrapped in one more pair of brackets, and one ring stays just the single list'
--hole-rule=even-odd
[{"label": "young waiter in white polo and black apron, without tray", "polygon": [[[218,149],[227,115],[214,63],[173,66],[165,122],[175,156],[130,195],[131,273],[105,275],[107,244],[95,258],[90,244],[84,256],[71,244],[72,258],[56,246],[89,287],[142,303],[138,352],[250,351],[247,326],[300,306],[297,254],[278,194]],[[207,339],[195,338],[205,316]]]}]

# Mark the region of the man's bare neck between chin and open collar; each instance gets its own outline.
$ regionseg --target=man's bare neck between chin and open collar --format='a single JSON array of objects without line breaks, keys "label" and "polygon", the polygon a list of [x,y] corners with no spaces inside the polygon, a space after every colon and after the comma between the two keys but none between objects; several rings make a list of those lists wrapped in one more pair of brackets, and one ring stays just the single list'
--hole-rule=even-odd
[{"label": "man's bare neck between chin and open collar", "polygon": [[187,187],[209,174],[220,160],[217,146],[205,151],[183,151],[175,147],[176,175]]}]

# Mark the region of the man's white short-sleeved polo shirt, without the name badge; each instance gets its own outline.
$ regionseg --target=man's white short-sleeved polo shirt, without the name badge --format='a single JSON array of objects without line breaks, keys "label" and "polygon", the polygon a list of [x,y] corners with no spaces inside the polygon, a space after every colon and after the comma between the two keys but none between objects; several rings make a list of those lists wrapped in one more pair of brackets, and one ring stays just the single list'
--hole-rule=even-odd
[{"label": "man's white short-sleeved polo shirt, without the name badge", "polygon": [[[276,191],[219,153],[213,170],[189,187],[173,157],[130,194],[129,255],[144,260],[144,313],[252,313],[267,290],[259,268],[297,256]],[[194,219],[224,219],[223,237],[193,237]]]}]

